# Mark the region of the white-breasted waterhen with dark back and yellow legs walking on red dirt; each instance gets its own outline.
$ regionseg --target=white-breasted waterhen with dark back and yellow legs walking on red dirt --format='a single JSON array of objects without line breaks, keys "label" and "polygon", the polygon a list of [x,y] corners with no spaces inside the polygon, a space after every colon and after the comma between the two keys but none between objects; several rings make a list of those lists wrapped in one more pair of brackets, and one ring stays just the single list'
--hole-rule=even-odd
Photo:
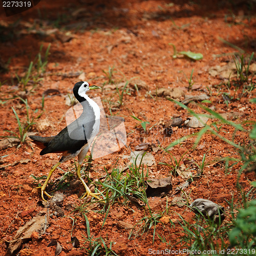
[{"label": "white-breasted waterhen with dark back and yellow legs walking on red dirt", "polygon": [[[78,156],[78,167],[76,170],[77,177],[81,180],[86,188],[85,196],[93,196],[100,200],[97,195],[100,193],[92,193],[87,184],[81,177],[80,169],[83,159],[86,157],[90,144],[99,132],[100,125],[100,109],[96,102],[86,95],[91,89],[98,89],[98,86],[92,86],[88,82],[77,82],[73,88],[73,93],[76,99],[83,107],[82,114],[56,136],[40,137],[29,136],[32,142],[42,149],[40,155],[48,153],[62,153],[62,157],[58,163],[52,166],[50,173],[41,188],[42,200],[46,201],[44,194],[50,196],[45,190],[54,170],[63,162],[66,162]],[[82,198],[83,198],[82,197]]]}]

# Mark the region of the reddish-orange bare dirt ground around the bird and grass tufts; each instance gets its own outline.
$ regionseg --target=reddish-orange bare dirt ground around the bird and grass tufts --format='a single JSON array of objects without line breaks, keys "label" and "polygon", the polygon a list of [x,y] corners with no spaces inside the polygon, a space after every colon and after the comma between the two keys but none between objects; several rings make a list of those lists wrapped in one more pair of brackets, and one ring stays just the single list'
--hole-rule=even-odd
[{"label": "reddish-orange bare dirt ground around the bird and grass tufts", "polygon": [[[189,203],[197,198],[208,199],[224,206],[227,212],[230,209],[227,201],[233,197],[234,204],[238,203],[241,194],[236,183],[241,164],[234,164],[226,170],[225,162],[220,161],[224,157],[239,157],[233,146],[218,136],[206,133],[195,149],[195,137],[190,137],[169,149],[172,156],[161,150],[176,139],[202,129],[184,124],[170,128],[168,123],[173,117],[185,121],[191,114],[169,101],[168,97],[183,101],[188,96],[206,94],[207,101],[202,104],[223,114],[228,120],[236,123],[256,120],[255,104],[249,101],[255,97],[255,90],[245,92],[243,87],[238,89],[233,84],[227,86],[229,79],[236,78],[234,70],[231,70],[234,76],[229,77],[231,71],[228,67],[234,64],[231,53],[244,52],[248,57],[255,51],[256,3],[232,3],[213,0],[207,3],[167,0],[46,0],[28,11],[9,17],[0,9],[0,135],[10,136],[7,131],[18,133],[17,119],[11,107],[21,122],[27,122],[25,103],[17,96],[27,99],[29,115],[34,116],[35,124],[29,132],[40,136],[56,135],[66,126],[65,114],[71,108],[67,95],[72,95],[77,81],[87,80],[102,88],[88,94],[90,97],[100,97],[105,114],[124,119],[127,137],[126,146],[93,160],[89,174],[91,180],[104,179],[105,170],[111,174],[117,166],[120,170],[125,168],[129,164],[127,156],[130,156],[131,150],[136,151],[138,145],[148,143],[149,146],[142,145],[144,150],[154,156],[154,163],[148,166],[148,178],[172,177],[173,187],[162,197],[148,198],[151,210],[156,213],[164,212],[167,200],[169,210],[163,214],[162,223],[156,225],[156,232],[166,239],[166,243],[156,235],[153,244],[154,228],[150,228],[143,236],[138,233],[129,238],[132,227],[148,214],[147,207],[120,198],[119,202],[111,204],[108,212],[103,212],[99,211],[103,206],[94,203],[84,211],[86,219],[81,212],[75,210],[76,206],[84,202],[84,199],[79,199],[84,188],[77,181],[75,172],[67,188],[53,193],[63,196],[61,203],[54,207],[43,204],[40,190],[36,188],[37,182],[31,175],[48,175],[60,155],[40,156],[39,148],[31,144],[28,138],[20,146],[17,143],[2,143],[1,255],[9,255],[7,248],[10,241],[17,239],[17,230],[36,216],[48,218],[46,229],[40,232],[32,230],[28,238],[20,240],[22,244],[14,245],[17,246],[15,253],[54,255],[57,242],[62,247],[59,255],[88,255],[88,223],[90,236],[95,239],[101,237],[117,255],[148,255],[150,249],[184,249],[182,244],[177,244],[183,234],[178,214],[188,222],[193,222],[195,214],[185,205],[172,203],[174,198],[185,198],[186,195]],[[24,87],[16,75],[26,76],[30,61],[38,57],[41,46],[44,61],[49,44],[50,54],[45,72],[36,78],[38,80],[35,84],[30,78]],[[203,58],[193,60],[182,54],[175,58],[171,44],[176,46],[178,52],[201,53]],[[254,59],[252,62],[255,62]],[[112,74],[109,72],[111,68]],[[192,70],[193,82],[189,87]],[[109,84],[111,80],[115,83]],[[129,82],[120,99],[116,86],[121,93],[126,81]],[[161,88],[169,89],[162,92],[167,97],[159,93]],[[186,105],[196,113],[206,113],[194,101]],[[39,114],[40,117],[36,118]],[[147,132],[142,129],[140,121],[132,116],[148,122]],[[212,120],[209,119],[209,122]],[[237,132],[232,138],[234,129],[230,125],[220,126],[219,133],[222,136],[233,139],[237,144],[248,143],[248,133]],[[169,136],[167,133],[170,133]],[[153,150],[158,145],[161,148]],[[188,160],[200,165],[204,154],[205,166],[201,175],[184,187],[183,193],[177,190],[177,186],[184,184],[186,178],[173,171],[170,159],[181,159],[179,164],[190,169]],[[72,170],[73,163],[74,160],[71,160],[60,165],[62,170],[55,171],[51,182],[59,181],[65,172]],[[190,172],[196,175],[198,170],[191,167]],[[248,192],[251,189],[250,181],[253,180],[253,174],[242,173],[239,182]],[[76,222],[73,225],[74,219]],[[229,221],[227,214],[225,223]],[[75,248],[72,245],[71,236],[78,239],[80,246]],[[51,241],[53,246],[48,246]]]}]

